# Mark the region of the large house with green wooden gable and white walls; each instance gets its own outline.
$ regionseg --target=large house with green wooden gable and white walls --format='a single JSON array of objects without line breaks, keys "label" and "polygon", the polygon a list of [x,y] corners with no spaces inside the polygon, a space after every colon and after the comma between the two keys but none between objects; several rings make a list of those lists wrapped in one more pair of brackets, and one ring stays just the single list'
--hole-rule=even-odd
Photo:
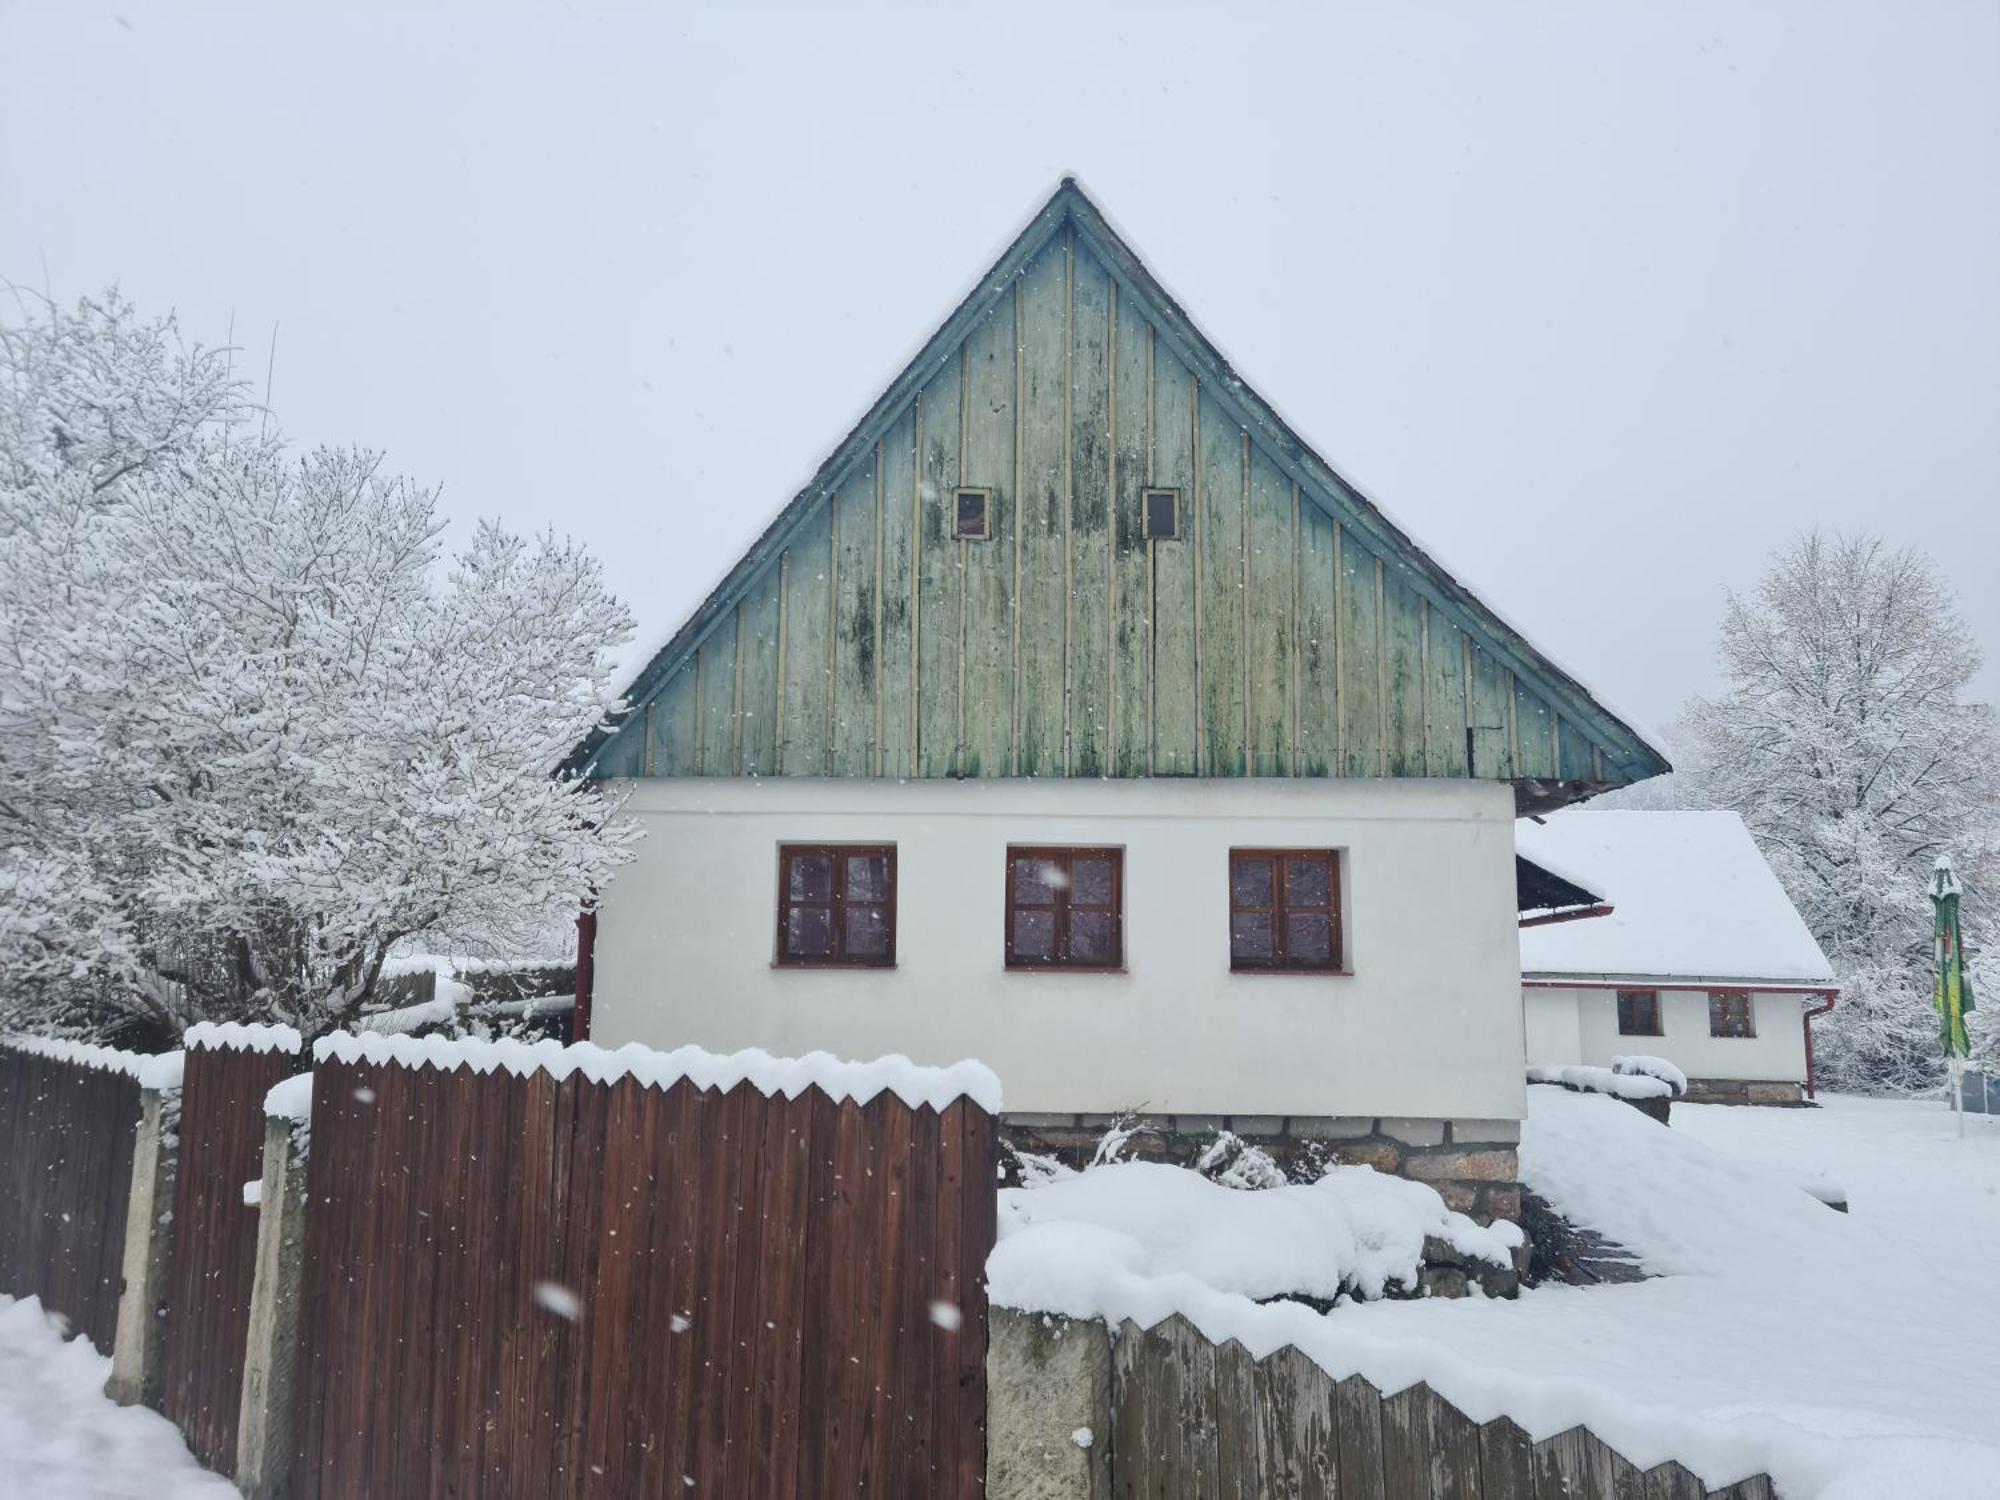
[{"label": "large house with green wooden gable and white walls", "polygon": [[976,1056],[1054,1136],[1136,1108],[1448,1180],[1514,1176],[1516,816],[1666,770],[1074,182],[628,698],[570,758],[648,834],[594,1040]]}]

